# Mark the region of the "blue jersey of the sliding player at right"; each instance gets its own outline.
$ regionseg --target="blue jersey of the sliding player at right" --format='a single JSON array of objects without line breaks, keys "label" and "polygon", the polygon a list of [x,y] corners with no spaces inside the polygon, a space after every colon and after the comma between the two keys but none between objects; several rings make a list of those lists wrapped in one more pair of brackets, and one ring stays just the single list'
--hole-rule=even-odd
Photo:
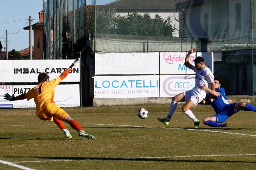
[{"label": "blue jersey of the sliding player at right", "polygon": [[[215,88],[215,91],[217,91],[220,94],[220,96],[213,98],[213,102],[210,102],[210,105],[212,105],[212,108],[218,114],[223,111],[225,106],[230,104],[228,102],[227,97],[225,96],[226,92],[224,88]],[[207,94],[206,99],[209,99],[209,94]]]}]

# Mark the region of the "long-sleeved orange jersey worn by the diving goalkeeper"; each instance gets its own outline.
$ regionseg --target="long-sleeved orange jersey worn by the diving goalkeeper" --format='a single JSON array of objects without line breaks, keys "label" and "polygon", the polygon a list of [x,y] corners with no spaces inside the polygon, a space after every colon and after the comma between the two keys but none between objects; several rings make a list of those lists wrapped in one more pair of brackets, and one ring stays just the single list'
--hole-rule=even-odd
[{"label": "long-sleeved orange jersey worn by the diving goalkeeper", "polygon": [[41,82],[25,94],[27,100],[34,98],[36,114],[40,113],[41,111],[45,111],[47,105],[54,102],[54,88],[61,82],[61,80],[67,77],[67,74],[69,74],[70,71],[71,69],[68,68],[61,73],[59,77],[52,79],[49,82]]}]

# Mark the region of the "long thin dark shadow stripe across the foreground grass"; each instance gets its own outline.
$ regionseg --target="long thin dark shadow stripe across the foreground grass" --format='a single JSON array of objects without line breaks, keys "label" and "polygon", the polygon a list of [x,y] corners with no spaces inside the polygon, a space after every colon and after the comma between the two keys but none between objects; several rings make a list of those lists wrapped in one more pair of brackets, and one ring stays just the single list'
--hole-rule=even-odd
[{"label": "long thin dark shadow stripe across the foreground grass", "polygon": [[[35,159],[51,159],[58,161],[74,160],[74,161],[159,161],[159,162],[201,162],[201,163],[256,163],[256,161],[231,161],[231,160],[180,160],[180,159],[160,159],[160,158],[90,158],[90,157],[41,157],[41,156],[4,156],[5,158],[35,158]],[[45,160],[44,160],[45,161]]]}]

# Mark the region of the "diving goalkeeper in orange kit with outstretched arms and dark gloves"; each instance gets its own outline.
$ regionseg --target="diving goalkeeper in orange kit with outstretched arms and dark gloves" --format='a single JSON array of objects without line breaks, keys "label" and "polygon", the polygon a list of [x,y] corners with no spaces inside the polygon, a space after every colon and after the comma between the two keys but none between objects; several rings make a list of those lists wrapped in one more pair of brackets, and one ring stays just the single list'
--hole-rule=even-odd
[{"label": "diving goalkeeper in orange kit with outstretched arms and dark gloves", "polygon": [[67,114],[62,108],[60,108],[54,101],[54,88],[70,73],[71,68],[75,66],[80,58],[76,59],[75,62],[70,65],[67,70],[63,71],[61,75],[55,79],[49,81],[49,76],[46,73],[40,73],[38,75],[38,85],[30,89],[27,93],[21,94],[19,96],[11,96],[8,93],[4,95],[4,99],[9,101],[27,99],[30,100],[34,98],[36,105],[35,114],[41,120],[49,120],[49,122],[54,121],[58,127],[65,133],[66,138],[72,138],[70,132],[66,129],[62,121],[67,122],[70,126],[79,132],[80,137],[85,137],[87,139],[95,139],[94,136],[86,133],[82,127],[72,119],[70,115]]}]

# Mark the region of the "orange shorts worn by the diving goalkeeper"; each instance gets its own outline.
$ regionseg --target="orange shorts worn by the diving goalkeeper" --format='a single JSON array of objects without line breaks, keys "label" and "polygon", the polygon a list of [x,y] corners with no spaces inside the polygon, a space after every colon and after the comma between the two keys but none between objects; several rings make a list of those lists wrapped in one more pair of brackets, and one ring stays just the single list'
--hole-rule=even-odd
[{"label": "orange shorts worn by the diving goalkeeper", "polygon": [[60,108],[56,103],[49,103],[43,111],[36,113],[36,115],[41,120],[49,120],[49,122],[52,122],[53,117],[59,120],[63,120],[68,115],[68,113]]}]

